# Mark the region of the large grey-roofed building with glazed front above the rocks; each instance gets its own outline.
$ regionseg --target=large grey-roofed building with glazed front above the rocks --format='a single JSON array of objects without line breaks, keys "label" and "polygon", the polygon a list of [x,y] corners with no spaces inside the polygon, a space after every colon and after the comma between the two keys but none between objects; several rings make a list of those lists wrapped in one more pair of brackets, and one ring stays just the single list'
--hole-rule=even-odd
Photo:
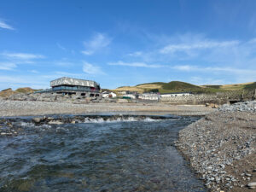
[{"label": "large grey-roofed building with glazed front above the rocks", "polygon": [[55,92],[63,95],[100,96],[100,84],[95,81],[63,77],[50,82],[51,89],[41,92]]}]

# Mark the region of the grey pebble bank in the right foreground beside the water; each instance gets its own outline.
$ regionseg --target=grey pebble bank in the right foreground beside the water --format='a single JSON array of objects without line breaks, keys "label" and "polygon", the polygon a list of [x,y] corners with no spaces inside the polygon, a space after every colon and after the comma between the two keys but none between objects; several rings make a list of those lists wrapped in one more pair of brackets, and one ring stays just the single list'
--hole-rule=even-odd
[{"label": "grey pebble bank in the right foreground beside the water", "polygon": [[255,104],[224,105],[179,132],[177,148],[209,190],[256,189]]}]

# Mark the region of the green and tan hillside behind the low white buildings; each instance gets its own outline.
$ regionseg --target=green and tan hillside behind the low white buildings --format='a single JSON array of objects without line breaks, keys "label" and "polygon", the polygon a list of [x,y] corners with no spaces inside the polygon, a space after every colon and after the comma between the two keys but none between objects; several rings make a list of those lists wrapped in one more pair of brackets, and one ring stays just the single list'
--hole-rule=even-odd
[{"label": "green and tan hillside behind the low white buildings", "polygon": [[225,84],[225,85],[195,85],[181,81],[171,81],[169,83],[154,82],[147,84],[137,84],[136,86],[123,86],[116,91],[130,90],[139,93],[158,90],[160,93],[171,92],[193,92],[193,93],[216,93],[228,90],[256,89],[256,82],[247,84]]}]

